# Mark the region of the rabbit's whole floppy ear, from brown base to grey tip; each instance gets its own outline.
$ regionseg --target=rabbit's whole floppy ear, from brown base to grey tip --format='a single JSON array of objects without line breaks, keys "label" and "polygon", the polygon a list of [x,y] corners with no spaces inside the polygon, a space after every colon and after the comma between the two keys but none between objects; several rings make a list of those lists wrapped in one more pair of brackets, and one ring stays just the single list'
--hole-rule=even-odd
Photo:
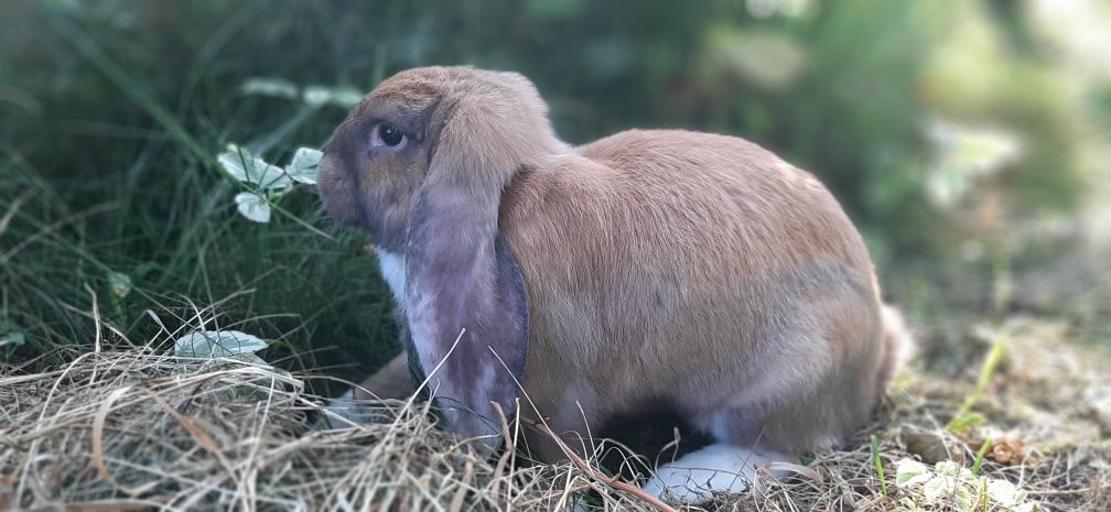
[{"label": "rabbit's whole floppy ear, from brown base to grey tip", "polygon": [[447,426],[463,435],[500,432],[491,402],[512,414],[528,353],[524,282],[498,231],[502,190],[520,165],[502,148],[517,135],[488,109],[464,100],[433,114],[439,140],[406,247],[410,358],[430,375]]}]

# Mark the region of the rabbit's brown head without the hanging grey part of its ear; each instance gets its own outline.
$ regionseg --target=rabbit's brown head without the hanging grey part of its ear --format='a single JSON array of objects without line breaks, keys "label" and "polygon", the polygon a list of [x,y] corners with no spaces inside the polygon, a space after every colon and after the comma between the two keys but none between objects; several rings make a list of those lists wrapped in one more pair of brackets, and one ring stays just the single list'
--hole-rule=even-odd
[{"label": "rabbit's brown head without the hanging grey part of its ear", "polygon": [[404,254],[419,197],[448,193],[476,211],[496,209],[521,165],[563,150],[547,110],[518,73],[402,71],[336,130],[320,163],[321,198],[332,217],[369,231],[379,249]]}]

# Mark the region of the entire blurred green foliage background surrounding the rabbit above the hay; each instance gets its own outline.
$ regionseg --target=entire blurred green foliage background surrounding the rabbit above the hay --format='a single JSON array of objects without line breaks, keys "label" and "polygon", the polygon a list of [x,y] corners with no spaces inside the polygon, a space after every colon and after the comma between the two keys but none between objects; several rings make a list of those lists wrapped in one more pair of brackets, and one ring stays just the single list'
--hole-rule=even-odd
[{"label": "entire blurred green foliage background surrounding the rabbit above the hay", "polygon": [[[17,232],[111,204],[7,262],[4,314],[32,335],[79,337],[59,328],[80,315],[57,298],[82,303],[81,284],[110,270],[137,278],[152,302],[264,290],[233,312],[296,312],[260,329],[302,345],[392,335],[363,240],[334,229],[314,198],[291,214],[339,241],[234,215],[236,190],[213,160],[226,143],[284,161],[344,116],[241,93],[257,77],[369,90],[414,66],[512,69],[538,84],[573,143],[633,127],[744,137],[828,183],[881,265],[951,253],[999,231],[997,217],[1068,211],[1084,183],[1075,88],[1012,1],[46,0],[7,4],[0,23],[0,210],[37,191],[0,250]],[[1109,90],[1083,97],[1105,124]],[[1021,158],[980,165],[989,178],[945,170],[985,183],[968,190],[1001,198],[993,211],[931,199],[939,149],[927,127],[938,118],[1001,127],[1021,143]],[[123,324],[141,325],[150,307],[136,295]],[[39,305],[12,312],[20,301]],[[351,349],[356,359],[381,360],[368,347]]]}]

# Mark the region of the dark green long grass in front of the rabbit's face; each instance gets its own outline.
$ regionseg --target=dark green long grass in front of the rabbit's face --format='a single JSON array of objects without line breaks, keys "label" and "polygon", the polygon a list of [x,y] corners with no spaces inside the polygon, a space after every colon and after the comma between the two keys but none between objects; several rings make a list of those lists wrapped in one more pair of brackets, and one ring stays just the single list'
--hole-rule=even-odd
[{"label": "dark green long grass in front of the rabbit's face", "polygon": [[[239,96],[243,77],[214,67],[264,7],[224,20],[174,71],[184,77],[174,88],[127,62],[123,34],[48,9],[29,14],[54,40],[47,57],[71,59],[73,91],[97,93],[50,98],[52,117],[31,129],[4,122],[14,134],[0,142],[0,215],[10,214],[0,232],[0,320],[26,342],[0,357],[64,361],[91,343],[94,298],[110,322],[104,335],[139,345],[163,329],[234,328],[273,340],[269,360],[351,379],[396,350],[392,307],[364,237],[331,222],[309,189],[283,198],[271,223],[252,223],[234,211],[239,185],[216,168],[226,142],[284,159],[321,145],[344,116]],[[180,64],[174,57],[188,60],[168,63]],[[289,71],[274,63],[268,71]],[[24,83],[34,79],[32,70]],[[127,297],[111,292],[111,272],[133,282]]]}]

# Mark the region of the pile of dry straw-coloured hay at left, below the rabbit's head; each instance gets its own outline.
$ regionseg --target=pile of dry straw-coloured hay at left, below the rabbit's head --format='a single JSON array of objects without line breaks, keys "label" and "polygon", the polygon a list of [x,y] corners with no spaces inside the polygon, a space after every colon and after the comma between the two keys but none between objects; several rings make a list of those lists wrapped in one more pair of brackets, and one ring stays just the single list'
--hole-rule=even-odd
[{"label": "pile of dry straw-coloured hay at left, below the rabbit's head", "polygon": [[553,510],[587,488],[571,466],[496,473],[419,405],[316,430],[302,382],[134,350],[3,377],[0,510]]}]

